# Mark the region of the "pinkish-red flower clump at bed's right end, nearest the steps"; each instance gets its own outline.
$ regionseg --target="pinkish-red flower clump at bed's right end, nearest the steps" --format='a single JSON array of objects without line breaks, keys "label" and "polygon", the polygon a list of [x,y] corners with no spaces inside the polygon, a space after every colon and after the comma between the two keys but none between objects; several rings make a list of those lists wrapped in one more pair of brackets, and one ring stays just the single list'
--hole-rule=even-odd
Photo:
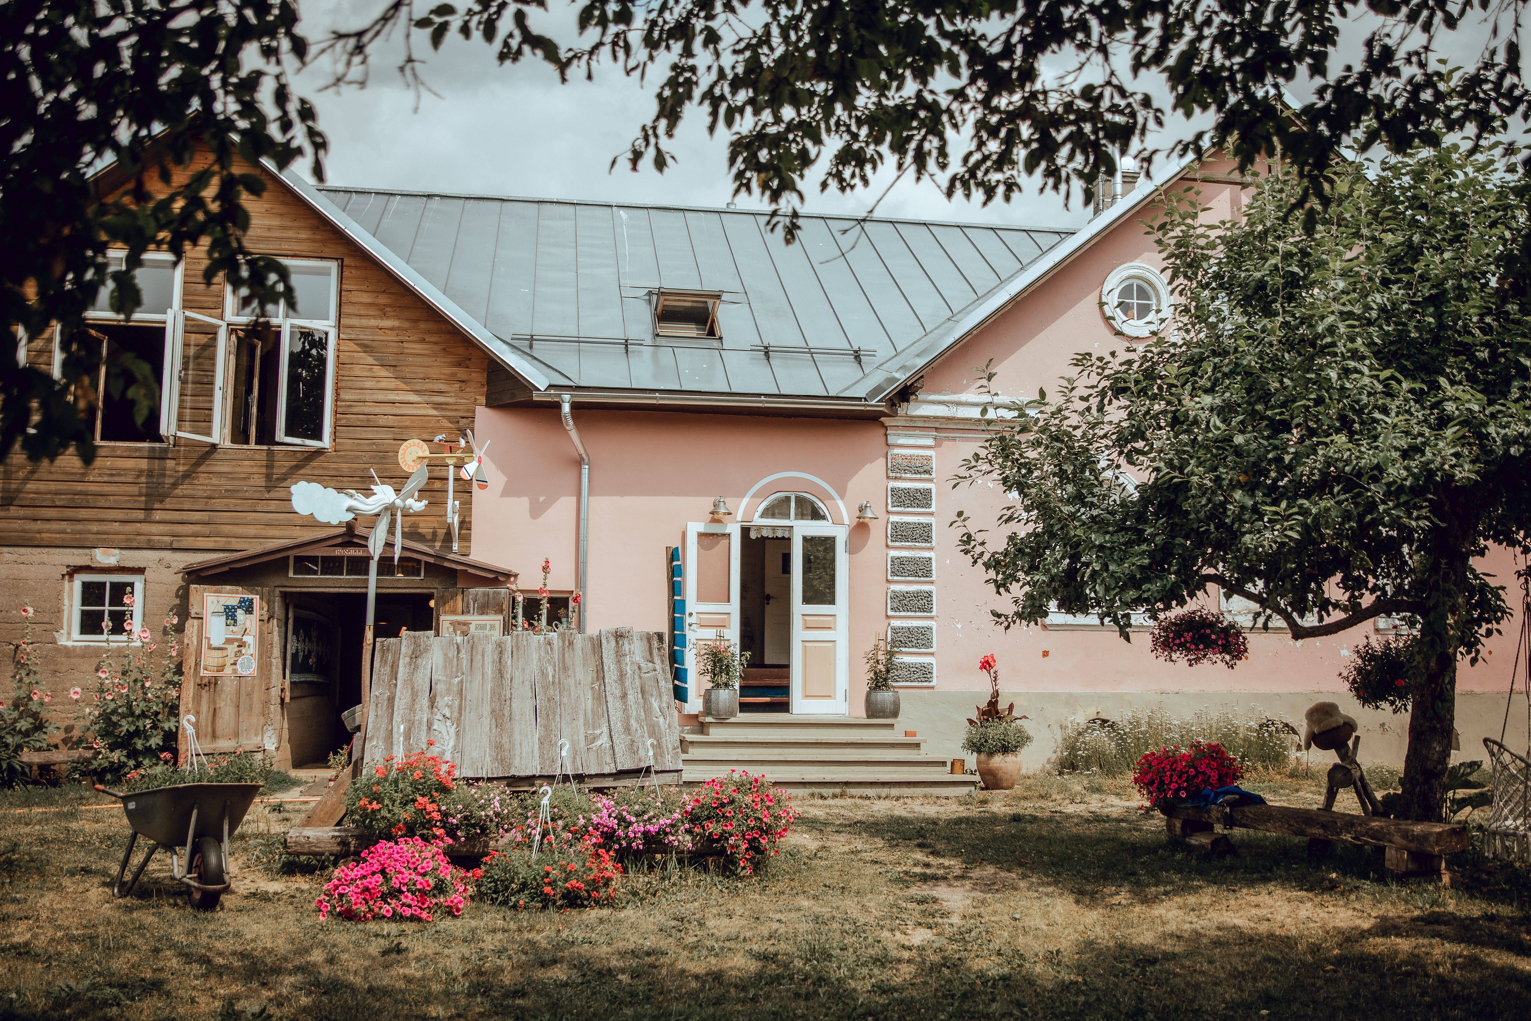
[{"label": "pinkish-red flower clump at bed's right end, nearest the steps", "polygon": [[694,848],[721,851],[733,871],[746,876],[779,854],[776,842],[798,820],[787,791],[744,770],[703,784],[687,796],[683,811]]}]

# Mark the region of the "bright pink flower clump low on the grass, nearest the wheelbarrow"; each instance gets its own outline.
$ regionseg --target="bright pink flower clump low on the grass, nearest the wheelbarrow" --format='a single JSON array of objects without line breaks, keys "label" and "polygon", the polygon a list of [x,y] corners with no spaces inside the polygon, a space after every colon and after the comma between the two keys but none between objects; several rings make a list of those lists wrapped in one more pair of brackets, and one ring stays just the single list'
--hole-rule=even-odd
[{"label": "bright pink flower clump low on the grass, nearest the wheelbarrow", "polygon": [[433,922],[436,912],[462,914],[468,885],[481,871],[455,868],[441,848],[419,837],[384,840],[361,853],[361,860],[341,865],[314,905],[320,920],[334,912],[351,922],[374,918]]}]

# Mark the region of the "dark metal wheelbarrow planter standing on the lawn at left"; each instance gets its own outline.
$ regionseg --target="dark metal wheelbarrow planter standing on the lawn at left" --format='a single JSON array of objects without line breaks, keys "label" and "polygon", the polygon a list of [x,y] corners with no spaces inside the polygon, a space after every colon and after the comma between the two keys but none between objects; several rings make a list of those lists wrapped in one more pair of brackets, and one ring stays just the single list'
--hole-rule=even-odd
[{"label": "dark metal wheelbarrow planter standing on the lawn at left", "polygon": [[[149,859],[155,857],[159,848],[165,848],[170,851],[170,873],[178,882],[185,883],[191,906],[197,911],[211,911],[217,906],[231,886],[228,834],[243,822],[245,813],[260,793],[260,784],[176,784],[132,794],[107,790],[100,784],[95,788],[103,794],[119,798],[127,813],[127,824],[133,827],[133,836],[122,851],[122,865],[112,882],[113,897],[127,897],[133,892]],[[133,879],[124,886],[122,876],[127,874],[133,845],[139,836],[153,840],[155,845],[149,848],[149,854],[133,869]],[[176,848],[181,846],[187,850],[185,869],[176,856]]]}]

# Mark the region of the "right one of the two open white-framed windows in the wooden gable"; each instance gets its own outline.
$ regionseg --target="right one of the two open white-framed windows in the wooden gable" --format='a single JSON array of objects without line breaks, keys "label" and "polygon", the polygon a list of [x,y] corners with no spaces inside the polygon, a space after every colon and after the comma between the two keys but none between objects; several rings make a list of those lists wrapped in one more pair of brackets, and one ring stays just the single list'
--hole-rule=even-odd
[{"label": "right one of the two open white-framed windows in the wooden gable", "polygon": [[234,329],[228,441],[251,447],[329,447],[335,393],[340,265],[282,259],[291,302],[256,308],[228,288]]}]

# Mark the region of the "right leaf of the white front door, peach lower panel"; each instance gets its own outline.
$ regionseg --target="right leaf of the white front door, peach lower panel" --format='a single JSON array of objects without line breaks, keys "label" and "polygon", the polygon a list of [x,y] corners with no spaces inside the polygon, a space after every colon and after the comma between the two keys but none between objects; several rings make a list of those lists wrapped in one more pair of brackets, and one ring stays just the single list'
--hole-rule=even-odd
[{"label": "right leaf of the white front door, peach lower panel", "polygon": [[845,525],[792,528],[792,712],[850,712],[850,556]]}]

